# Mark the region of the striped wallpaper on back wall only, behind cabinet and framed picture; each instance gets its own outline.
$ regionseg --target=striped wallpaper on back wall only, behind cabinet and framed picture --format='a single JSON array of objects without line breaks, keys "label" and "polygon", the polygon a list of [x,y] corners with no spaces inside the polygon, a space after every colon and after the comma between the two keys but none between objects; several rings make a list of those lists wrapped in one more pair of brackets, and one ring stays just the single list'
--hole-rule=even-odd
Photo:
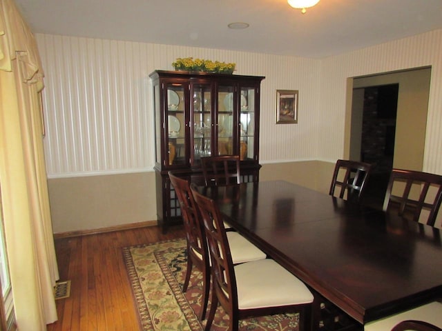
[{"label": "striped wallpaper on back wall only, behind cabinet and framed picture", "polygon": [[[45,70],[48,177],[153,169],[153,102],[148,78],[177,57],[237,63],[236,74],[265,76],[261,160],[312,159],[319,61],[266,54],[37,34]],[[276,90],[300,90],[302,126],[276,126]],[[287,144],[281,144],[281,141]]]}]

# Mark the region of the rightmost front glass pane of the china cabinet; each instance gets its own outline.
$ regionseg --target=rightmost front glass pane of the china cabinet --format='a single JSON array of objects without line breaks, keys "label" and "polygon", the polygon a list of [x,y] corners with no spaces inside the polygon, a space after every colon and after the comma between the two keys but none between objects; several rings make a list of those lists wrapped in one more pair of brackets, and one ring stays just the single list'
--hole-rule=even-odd
[{"label": "rightmost front glass pane of the china cabinet", "polygon": [[240,95],[240,159],[253,159],[255,142],[255,89],[241,88]]}]

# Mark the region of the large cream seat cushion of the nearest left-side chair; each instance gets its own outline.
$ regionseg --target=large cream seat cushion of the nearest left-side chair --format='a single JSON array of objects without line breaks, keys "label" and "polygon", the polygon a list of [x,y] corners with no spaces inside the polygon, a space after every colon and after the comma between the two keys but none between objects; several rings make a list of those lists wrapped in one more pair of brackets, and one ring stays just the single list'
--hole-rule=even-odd
[{"label": "large cream seat cushion of the nearest left-side chair", "polygon": [[235,266],[238,308],[251,309],[313,302],[313,294],[272,259]]}]

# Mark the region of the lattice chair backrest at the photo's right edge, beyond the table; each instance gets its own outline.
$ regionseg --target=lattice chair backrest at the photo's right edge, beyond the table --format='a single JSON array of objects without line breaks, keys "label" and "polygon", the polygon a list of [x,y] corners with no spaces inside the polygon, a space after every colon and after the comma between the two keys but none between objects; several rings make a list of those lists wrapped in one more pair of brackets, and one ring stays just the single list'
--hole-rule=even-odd
[{"label": "lattice chair backrest at the photo's right edge, beyond the table", "polygon": [[[394,191],[394,183],[400,182],[403,183],[403,190],[401,190],[400,195],[396,195],[394,194],[396,192]],[[428,194],[430,187],[436,189],[434,199],[432,194]],[[416,199],[412,195],[413,189],[419,191],[419,193],[416,193]],[[441,201],[442,176],[427,172],[393,169],[387,185],[387,192],[385,192],[383,210],[388,210],[391,205],[396,205],[399,215],[402,216],[405,212],[412,212],[414,221],[419,221],[422,210],[428,210],[430,214],[426,223],[434,225]]]}]

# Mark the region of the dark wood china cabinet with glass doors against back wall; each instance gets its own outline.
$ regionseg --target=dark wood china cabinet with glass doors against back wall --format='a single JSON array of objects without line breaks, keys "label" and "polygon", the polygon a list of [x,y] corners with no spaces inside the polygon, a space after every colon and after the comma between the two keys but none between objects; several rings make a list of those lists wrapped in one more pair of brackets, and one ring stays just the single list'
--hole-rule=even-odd
[{"label": "dark wood china cabinet with glass doors against back wall", "polygon": [[157,217],[165,231],[180,223],[180,205],[168,172],[195,183],[201,158],[233,154],[241,180],[258,181],[260,83],[265,77],[155,70],[150,75],[155,109]]}]

